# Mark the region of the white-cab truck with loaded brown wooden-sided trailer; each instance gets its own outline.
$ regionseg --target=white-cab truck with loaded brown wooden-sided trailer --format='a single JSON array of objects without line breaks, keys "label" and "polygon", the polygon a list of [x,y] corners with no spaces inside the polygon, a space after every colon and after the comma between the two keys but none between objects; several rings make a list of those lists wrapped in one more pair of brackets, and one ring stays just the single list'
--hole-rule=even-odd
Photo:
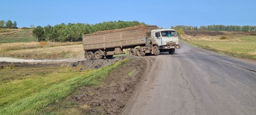
[{"label": "white-cab truck with loaded brown wooden-sided trailer", "polygon": [[129,55],[145,56],[160,52],[174,54],[175,49],[180,48],[178,32],[157,26],[84,34],[82,40],[87,60],[111,59],[113,55],[125,54],[124,50],[129,51]]}]

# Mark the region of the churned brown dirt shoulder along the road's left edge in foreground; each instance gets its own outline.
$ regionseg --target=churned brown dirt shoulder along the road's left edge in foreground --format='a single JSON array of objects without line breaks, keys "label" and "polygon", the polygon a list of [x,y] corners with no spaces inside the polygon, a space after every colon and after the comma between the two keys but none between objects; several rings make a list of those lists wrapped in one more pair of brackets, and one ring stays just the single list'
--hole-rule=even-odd
[{"label": "churned brown dirt shoulder along the road's left edge in foreground", "polygon": [[[78,89],[82,93],[72,96],[71,101],[90,106],[90,109],[83,110],[83,114],[121,114],[145,69],[145,58],[135,58],[109,73],[100,87]],[[136,71],[129,76],[128,73],[133,70]]]}]

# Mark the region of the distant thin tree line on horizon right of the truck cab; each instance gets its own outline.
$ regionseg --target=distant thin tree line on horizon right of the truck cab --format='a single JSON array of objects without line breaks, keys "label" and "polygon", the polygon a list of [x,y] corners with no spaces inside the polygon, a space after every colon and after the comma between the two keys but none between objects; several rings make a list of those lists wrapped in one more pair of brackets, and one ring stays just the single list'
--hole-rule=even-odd
[{"label": "distant thin tree line on horizon right of the truck cab", "polygon": [[235,31],[235,32],[255,32],[256,26],[225,26],[225,25],[208,25],[208,26],[171,26],[172,29],[196,30],[196,31]]}]

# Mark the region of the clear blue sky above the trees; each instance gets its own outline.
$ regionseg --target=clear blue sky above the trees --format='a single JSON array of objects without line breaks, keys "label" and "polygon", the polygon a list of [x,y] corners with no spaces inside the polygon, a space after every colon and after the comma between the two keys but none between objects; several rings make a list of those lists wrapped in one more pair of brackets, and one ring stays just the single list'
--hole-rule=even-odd
[{"label": "clear blue sky above the trees", "polygon": [[159,27],[256,25],[255,0],[4,0],[0,20],[18,27],[139,21]]}]

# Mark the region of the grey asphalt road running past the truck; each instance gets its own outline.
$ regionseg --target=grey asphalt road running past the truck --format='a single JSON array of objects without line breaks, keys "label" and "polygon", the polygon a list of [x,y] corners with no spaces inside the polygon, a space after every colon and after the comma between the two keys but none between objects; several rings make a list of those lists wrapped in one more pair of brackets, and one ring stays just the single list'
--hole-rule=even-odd
[{"label": "grey asphalt road running past the truck", "polygon": [[123,114],[256,114],[256,65],[185,43],[160,54]]}]

